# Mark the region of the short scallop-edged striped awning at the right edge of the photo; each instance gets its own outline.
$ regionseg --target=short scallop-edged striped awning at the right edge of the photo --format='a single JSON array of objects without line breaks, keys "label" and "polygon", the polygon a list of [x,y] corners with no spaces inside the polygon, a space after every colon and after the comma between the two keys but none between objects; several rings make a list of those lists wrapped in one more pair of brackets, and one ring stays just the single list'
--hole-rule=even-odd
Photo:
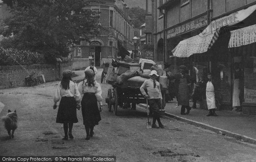
[{"label": "short scallop-edged striped awning at the right edge of the photo", "polygon": [[245,28],[230,31],[228,48],[240,47],[256,42],[256,24]]}]

